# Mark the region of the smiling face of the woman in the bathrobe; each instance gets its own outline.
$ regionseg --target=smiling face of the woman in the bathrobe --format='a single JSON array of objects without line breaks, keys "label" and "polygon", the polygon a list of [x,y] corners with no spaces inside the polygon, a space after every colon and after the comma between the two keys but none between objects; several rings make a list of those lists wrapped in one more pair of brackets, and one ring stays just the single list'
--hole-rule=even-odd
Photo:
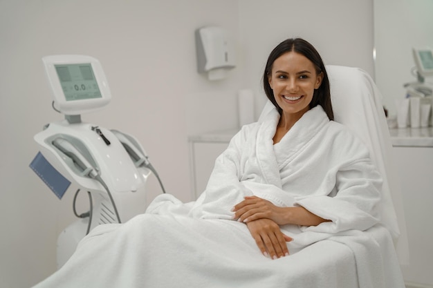
[{"label": "smiling face of the woman in the bathrobe", "polygon": [[314,89],[320,87],[323,75],[316,74],[313,62],[297,52],[278,57],[268,76],[270,88],[283,114],[298,119],[309,110]]}]

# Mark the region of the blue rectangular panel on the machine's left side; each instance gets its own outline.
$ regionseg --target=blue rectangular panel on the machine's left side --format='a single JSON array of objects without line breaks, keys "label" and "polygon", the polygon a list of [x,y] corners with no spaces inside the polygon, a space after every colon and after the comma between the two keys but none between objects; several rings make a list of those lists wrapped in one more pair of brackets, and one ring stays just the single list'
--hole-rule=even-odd
[{"label": "blue rectangular panel on the machine's left side", "polygon": [[60,174],[59,171],[46,160],[42,153],[37,153],[35,159],[30,163],[30,168],[35,171],[46,186],[48,186],[59,199],[62,199],[71,182]]}]

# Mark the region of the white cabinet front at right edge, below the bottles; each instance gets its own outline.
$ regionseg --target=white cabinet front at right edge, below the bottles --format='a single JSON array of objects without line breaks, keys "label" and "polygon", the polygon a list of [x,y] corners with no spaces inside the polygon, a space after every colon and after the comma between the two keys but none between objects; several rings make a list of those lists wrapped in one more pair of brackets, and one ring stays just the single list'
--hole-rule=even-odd
[{"label": "white cabinet front at right edge, below the bottles", "polygon": [[403,276],[407,282],[433,285],[433,147],[393,150],[409,240],[410,259],[402,266]]}]

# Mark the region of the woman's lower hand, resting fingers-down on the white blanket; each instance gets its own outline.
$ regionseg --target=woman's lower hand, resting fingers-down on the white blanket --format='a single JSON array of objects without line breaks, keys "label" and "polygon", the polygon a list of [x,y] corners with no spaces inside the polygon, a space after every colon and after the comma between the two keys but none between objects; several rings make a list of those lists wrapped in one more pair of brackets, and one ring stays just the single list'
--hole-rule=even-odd
[{"label": "woman's lower hand, resting fingers-down on the white blanket", "polygon": [[246,223],[261,253],[277,259],[288,256],[286,242],[293,240],[279,229],[277,223],[269,219],[253,220]]}]

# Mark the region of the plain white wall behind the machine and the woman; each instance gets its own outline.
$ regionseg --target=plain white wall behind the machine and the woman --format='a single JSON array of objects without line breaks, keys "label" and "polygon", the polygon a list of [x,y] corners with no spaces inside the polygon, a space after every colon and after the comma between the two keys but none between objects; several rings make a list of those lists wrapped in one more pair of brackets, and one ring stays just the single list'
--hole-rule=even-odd
[{"label": "plain white wall behind the machine and the woman", "polygon": [[[0,0],[0,287],[29,287],[55,271],[57,235],[73,221],[28,168],[33,135],[61,117],[50,108],[41,57],[100,59],[113,100],[83,121],[135,135],[169,193],[191,200],[187,135],[237,126],[236,93],[256,92],[270,50],[301,36],[327,64],[372,73],[372,3],[364,0]],[[216,24],[238,39],[239,65],[224,81],[196,73],[194,30]],[[158,191],[148,183],[149,200]]]}]

